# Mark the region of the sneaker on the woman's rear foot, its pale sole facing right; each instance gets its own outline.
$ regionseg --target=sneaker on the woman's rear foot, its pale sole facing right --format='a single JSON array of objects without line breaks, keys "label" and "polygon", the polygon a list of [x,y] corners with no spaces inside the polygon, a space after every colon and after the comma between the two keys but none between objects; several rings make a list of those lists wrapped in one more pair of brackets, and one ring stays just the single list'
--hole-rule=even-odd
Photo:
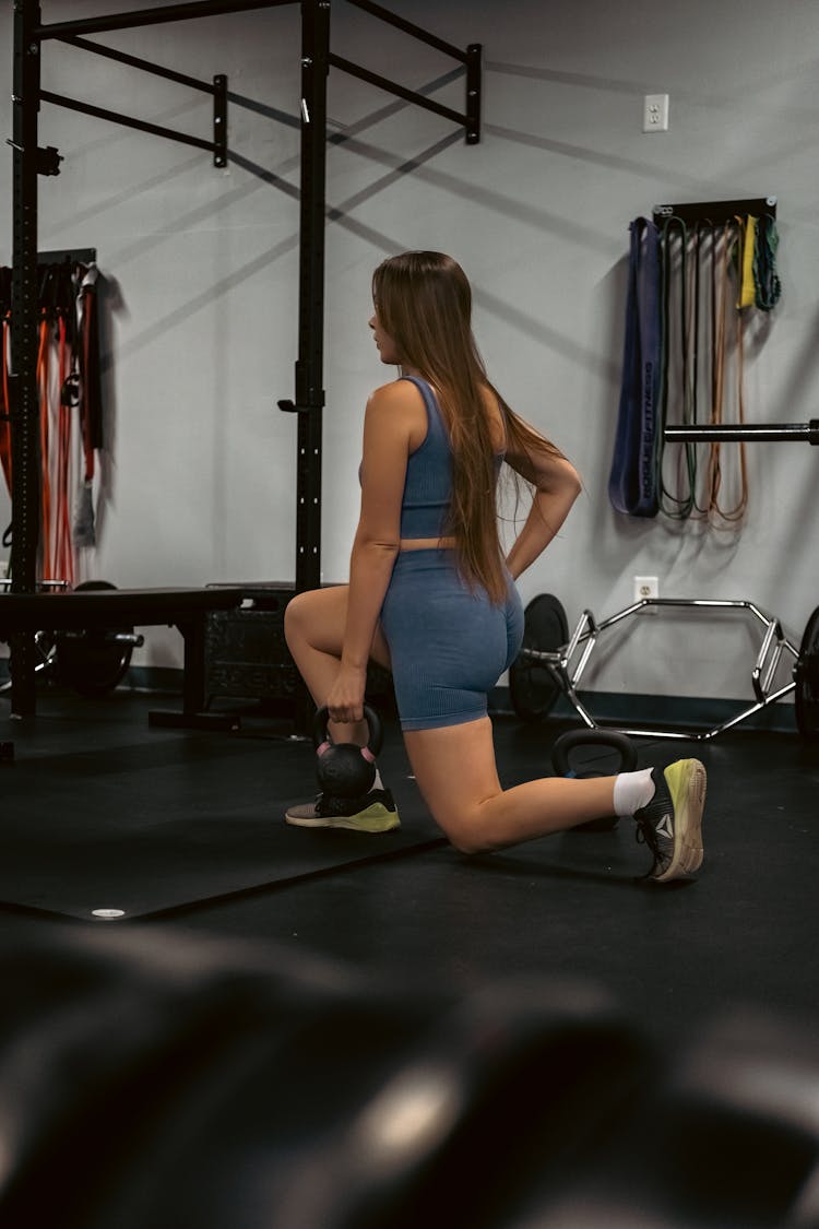
[{"label": "sneaker on the woman's rear foot, its pale sole facing right", "polygon": [[656,780],[647,806],[635,811],[637,841],[654,859],[647,878],[658,884],[685,879],[702,865],[702,809],[706,774],[699,760],[678,760]]}]

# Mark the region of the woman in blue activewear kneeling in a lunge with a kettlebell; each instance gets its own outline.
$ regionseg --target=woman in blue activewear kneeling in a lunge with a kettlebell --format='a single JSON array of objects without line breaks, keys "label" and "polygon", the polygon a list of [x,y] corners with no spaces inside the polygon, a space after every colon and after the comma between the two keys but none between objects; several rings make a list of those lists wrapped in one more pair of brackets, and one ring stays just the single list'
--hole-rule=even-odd
[{"label": "woman in blue activewear kneeling in a lunge with a kettlebell", "polygon": [[[330,735],[366,742],[367,662],[392,670],[406,752],[436,822],[464,853],[500,849],[603,816],[634,816],[651,876],[702,862],[705,769],[678,761],[616,777],[548,777],[502,789],[486,697],[517,656],[523,611],[514,581],[549,546],[580,494],[566,457],[513,414],[486,377],[472,333],[472,293],[438,252],[384,261],[370,321],[381,361],[402,376],[367,402],[361,516],[349,585],[300,594],[285,634]],[[496,511],[505,461],[533,488],[506,559]],[[376,777],[362,799],[319,794],[290,823],[379,832],[398,826]]]}]

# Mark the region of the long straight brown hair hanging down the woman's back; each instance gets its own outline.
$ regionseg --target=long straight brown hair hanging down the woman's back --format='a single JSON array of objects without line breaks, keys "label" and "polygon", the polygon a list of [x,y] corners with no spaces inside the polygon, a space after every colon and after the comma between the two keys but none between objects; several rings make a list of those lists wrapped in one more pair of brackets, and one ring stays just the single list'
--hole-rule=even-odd
[{"label": "long straight brown hair hanging down the woman's back", "polygon": [[494,602],[506,597],[506,573],[497,533],[496,454],[484,399],[490,388],[503,414],[507,445],[516,451],[562,454],[506,404],[486,376],[472,331],[472,289],[460,265],[442,252],[404,252],[378,265],[372,279],[378,321],[402,363],[438,395],[453,456],[447,536],[454,538],[459,569]]}]

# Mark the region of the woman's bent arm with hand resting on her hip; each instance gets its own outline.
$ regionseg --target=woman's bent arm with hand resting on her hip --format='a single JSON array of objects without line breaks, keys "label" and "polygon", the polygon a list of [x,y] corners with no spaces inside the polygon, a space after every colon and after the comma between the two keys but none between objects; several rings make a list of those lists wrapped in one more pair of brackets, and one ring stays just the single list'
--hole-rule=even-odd
[{"label": "woman's bent arm with hand resting on her hip", "polygon": [[507,452],[506,461],[535,488],[529,515],[506,558],[506,565],[517,580],[555,537],[580,495],[582,484],[571,461],[555,456],[546,449],[537,452]]}]

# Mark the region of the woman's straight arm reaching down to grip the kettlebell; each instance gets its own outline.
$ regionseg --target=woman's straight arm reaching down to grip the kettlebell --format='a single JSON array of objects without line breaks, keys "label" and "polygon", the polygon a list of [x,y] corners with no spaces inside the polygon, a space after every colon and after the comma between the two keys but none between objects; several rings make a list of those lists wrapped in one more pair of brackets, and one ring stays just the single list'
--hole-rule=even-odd
[{"label": "woman's straight arm reaching down to grip the kettlebell", "polygon": [[400,543],[410,424],[416,409],[413,385],[397,381],[376,390],[367,402],[361,515],[350,557],[347,624],[341,669],[328,697],[333,721],[359,721],[363,715],[370,650]]}]

